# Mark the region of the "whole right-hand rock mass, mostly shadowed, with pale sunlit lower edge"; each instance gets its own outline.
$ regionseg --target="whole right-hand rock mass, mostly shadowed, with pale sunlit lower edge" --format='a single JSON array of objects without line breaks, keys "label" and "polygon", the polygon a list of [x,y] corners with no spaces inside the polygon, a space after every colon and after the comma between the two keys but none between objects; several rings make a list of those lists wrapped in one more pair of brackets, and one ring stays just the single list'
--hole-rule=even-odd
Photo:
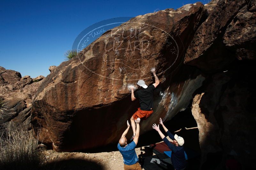
[{"label": "whole right-hand rock mass, mostly shadowed, with pale sunlit lower edge", "polygon": [[186,52],[184,63],[201,68],[206,77],[192,104],[202,169],[221,169],[230,156],[245,169],[255,168],[250,162],[256,159],[256,139],[249,137],[256,128],[254,7],[255,1],[220,0]]}]

